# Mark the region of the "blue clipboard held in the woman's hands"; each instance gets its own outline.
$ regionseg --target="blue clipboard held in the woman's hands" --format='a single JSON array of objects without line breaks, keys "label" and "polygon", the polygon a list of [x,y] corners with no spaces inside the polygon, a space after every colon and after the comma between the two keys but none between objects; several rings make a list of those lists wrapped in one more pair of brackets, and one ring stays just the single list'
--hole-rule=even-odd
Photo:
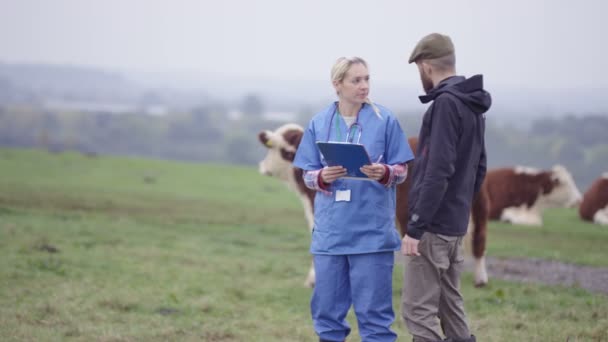
[{"label": "blue clipboard held in the woman's hands", "polygon": [[317,147],[327,165],[341,165],[346,169],[346,176],[342,178],[372,180],[359,170],[363,165],[372,164],[365,146],[347,142],[317,141]]}]

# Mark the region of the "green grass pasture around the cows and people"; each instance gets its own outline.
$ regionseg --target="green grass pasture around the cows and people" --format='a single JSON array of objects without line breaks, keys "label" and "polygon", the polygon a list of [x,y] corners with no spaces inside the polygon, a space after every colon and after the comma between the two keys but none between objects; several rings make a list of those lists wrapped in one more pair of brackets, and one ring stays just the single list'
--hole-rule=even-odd
[{"label": "green grass pasture around the cows and people", "polygon": [[[315,340],[302,209],[254,168],[0,149],[0,175],[0,341]],[[492,256],[608,266],[573,210],[489,234]],[[463,293],[480,341],[608,341],[603,295],[468,273]]]}]

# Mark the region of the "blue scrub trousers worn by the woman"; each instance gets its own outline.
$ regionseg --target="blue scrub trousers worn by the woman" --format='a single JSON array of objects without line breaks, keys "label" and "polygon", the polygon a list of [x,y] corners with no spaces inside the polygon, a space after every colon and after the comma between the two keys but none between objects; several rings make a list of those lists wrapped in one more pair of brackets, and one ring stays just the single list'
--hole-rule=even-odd
[{"label": "blue scrub trousers worn by the woman", "polygon": [[315,332],[322,341],[344,341],[346,314],[353,304],[362,342],[393,342],[394,252],[314,255],[316,283],[310,302]]}]

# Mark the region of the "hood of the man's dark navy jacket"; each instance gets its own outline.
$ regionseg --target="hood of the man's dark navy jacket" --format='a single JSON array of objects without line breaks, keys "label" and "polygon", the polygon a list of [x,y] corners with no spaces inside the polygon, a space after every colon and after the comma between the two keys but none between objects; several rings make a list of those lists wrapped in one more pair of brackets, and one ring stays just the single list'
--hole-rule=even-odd
[{"label": "hood of the man's dark navy jacket", "polygon": [[428,103],[443,93],[450,93],[459,98],[471,110],[479,115],[490,109],[492,97],[483,89],[483,76],[475,75],[470,78],[452,76],[439,82],[428,94],[420,96],[420,102]]}]

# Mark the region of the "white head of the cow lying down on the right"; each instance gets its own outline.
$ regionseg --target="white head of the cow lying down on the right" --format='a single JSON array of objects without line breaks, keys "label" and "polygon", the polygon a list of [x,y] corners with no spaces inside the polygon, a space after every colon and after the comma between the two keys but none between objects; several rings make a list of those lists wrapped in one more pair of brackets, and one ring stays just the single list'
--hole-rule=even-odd
[{"label": "white head of the cow lying down on the right", "polygon": [[554,166],[551,183],[545,187],[545,199],[553,207],[574,207],[580,204],[583,196],[570,172],[562,165]]}]

